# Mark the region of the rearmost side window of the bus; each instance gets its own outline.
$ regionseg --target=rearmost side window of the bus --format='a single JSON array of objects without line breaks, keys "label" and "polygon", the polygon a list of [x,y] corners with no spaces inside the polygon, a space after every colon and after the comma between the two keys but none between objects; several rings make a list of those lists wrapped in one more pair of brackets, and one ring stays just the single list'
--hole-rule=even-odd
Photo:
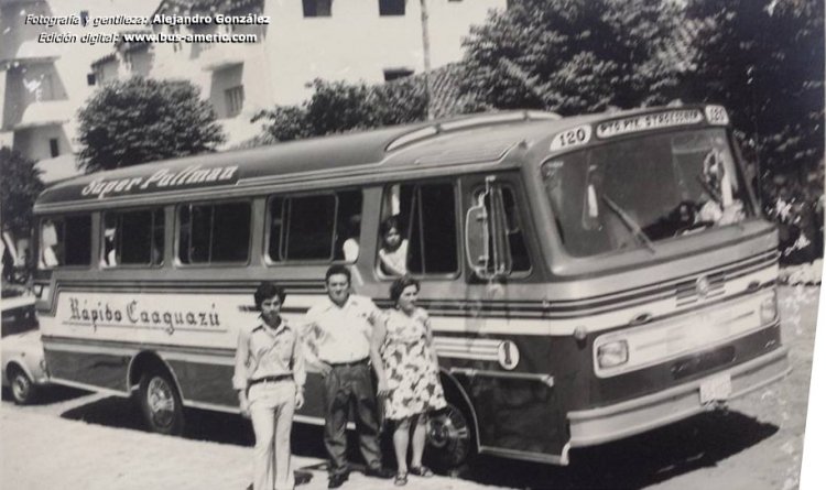
[{"label": "rearmost side window of the bus", "polygon": [[46,219],[41,225],[41,269],[91,263],[91,216]]}]

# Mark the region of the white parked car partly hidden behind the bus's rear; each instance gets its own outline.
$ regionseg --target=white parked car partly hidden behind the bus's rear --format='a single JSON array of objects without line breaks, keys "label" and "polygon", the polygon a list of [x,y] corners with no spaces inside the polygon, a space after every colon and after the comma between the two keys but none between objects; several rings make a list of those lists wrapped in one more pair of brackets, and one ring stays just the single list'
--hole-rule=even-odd
[{"label": "white parked car partly hidden behind the bus's rear", "polygon": [[[48,384],[43,345],[33,312],[34,300],[15,297],[2,301],[3,337],[0,340],[2,385],[11,391],[14,403],[32,403],[40,386]],[[8,335],[9,331],[14,334]]]}]

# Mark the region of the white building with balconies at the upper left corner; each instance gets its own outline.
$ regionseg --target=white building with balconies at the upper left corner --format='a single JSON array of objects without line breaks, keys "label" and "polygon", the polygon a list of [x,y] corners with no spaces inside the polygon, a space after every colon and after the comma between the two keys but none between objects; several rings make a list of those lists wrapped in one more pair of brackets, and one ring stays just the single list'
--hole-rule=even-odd
[{"label": "white building with balconies at the upper left corner", "polygon": [[[77,173],[76,112],[96,88],[87,77],[89,64],[111,50],[79,42],[91,28],[28,23],[28,15],[145,15],[148,10],[130,0],[0,0],[0,144],[40,161],[46,182]],[[50,35],[78,41],[42,42]]]}]

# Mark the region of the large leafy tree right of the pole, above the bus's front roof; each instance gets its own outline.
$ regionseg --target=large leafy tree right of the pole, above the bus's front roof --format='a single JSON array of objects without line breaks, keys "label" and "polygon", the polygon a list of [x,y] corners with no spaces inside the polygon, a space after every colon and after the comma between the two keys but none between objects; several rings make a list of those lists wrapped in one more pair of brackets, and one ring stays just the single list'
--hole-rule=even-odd
[{"label": "large leafy tree right of the pole, above the bus's front roof", "polygon": [[661,0],[520,0],[465,40],[461,89],[500,109],[564,115],[664,104],[692,53]]}]

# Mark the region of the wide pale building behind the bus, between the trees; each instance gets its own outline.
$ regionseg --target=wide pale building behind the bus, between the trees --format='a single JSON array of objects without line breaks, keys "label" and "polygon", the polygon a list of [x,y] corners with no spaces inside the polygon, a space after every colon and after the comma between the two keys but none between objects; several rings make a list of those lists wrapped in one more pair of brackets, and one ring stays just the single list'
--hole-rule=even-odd
[{"label": "wide pale building behind the bus, between the trees", "polygon": [[[461,39],[506,0],[426,0],[431,67],[461,58]],[[153,24],[163,34],[253,34],[247,43],[126,43],[95,61],[96,83],[133,75],[188,79],[232,146],[258,134],[261,109],[300,104],[315,78],[382,83],[424,69],[420,0],[162,0],[151,15],[247,15],[259,25]],[[122,37],[121,37],[122,40]]]}]

